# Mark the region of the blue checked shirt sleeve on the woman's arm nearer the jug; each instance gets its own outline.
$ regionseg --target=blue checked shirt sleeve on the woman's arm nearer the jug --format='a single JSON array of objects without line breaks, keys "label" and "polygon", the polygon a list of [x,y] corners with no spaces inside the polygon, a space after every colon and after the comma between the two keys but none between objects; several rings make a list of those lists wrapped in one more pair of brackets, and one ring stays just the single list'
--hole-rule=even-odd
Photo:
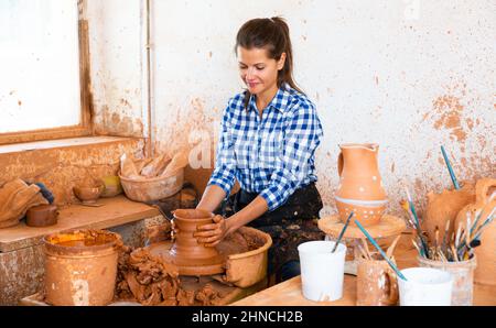
[{"label": "blue checked shirt sleeve on the woman's arm nearer the jug", "polygon": [[260,193],[269,211],[283,205],[305,179],[308,166],[313,165],[313,155],[323,135],[315,107],[312,103],[296,106],[285,129],[280,155],[282,165],[272,173],[269,185]]}]

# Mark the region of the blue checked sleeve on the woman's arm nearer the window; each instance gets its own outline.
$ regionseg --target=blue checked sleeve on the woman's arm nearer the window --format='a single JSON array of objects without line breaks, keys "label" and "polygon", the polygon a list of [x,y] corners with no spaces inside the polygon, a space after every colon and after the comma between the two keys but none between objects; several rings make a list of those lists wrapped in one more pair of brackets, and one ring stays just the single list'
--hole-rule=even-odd
[{"label": "blue checked sleeve on the woman's arm nearer the window", "polygon": [[231,112],[233,100],[229,101],[224,110],[222,123],[220,123],[220,136],[217,145],[217,152],[215,155],[215,168],[207,183],[209,185],[217,185],[226,193],[226,197],[229,196],[230,189],[235,183],[235,154],[234,144],[230,133],[231,127]]}]

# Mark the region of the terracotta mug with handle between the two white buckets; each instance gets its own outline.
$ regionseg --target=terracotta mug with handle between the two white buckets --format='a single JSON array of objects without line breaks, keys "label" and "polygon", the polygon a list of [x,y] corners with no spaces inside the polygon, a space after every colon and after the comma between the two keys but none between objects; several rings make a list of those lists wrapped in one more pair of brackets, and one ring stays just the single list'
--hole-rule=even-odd
[{"label": "terracotta mug with handle between the two white buckets", "polygon": [[358,260],[356,305],[388,306],[398,303],[395,271],[384,260]]}]

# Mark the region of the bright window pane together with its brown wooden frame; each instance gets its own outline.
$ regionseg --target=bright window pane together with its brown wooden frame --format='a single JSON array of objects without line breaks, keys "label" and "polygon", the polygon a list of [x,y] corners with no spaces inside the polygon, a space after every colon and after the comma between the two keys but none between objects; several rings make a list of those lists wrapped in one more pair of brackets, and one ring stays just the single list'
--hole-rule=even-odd
[{"label": "bright window pane together with its brown wooden frame", "polygon": [[77,0],[0,1],[0,143],[89,134],[86,44]]}]

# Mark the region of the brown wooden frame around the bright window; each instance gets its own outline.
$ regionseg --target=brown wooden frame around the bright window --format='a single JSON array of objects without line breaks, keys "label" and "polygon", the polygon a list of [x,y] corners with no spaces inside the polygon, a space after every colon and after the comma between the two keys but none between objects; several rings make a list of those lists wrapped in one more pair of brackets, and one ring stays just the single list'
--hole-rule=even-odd
[{"label": "brown wooden frame around the bright window", "polygon": [[78,48],[79,48],[79,96],[80,96],[80,123],[71,127],[36,129],[30,131],[0,133],[0,144],[12,144],[41,140],[54,140],[64,138],[77,138],[94,135],[91,124],[93,97],[90,92],[89,75],[89,37],[88,21],[84,15],[86,0],[78,0]]}]

